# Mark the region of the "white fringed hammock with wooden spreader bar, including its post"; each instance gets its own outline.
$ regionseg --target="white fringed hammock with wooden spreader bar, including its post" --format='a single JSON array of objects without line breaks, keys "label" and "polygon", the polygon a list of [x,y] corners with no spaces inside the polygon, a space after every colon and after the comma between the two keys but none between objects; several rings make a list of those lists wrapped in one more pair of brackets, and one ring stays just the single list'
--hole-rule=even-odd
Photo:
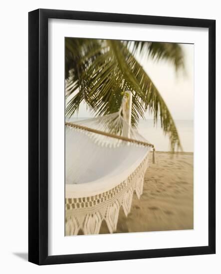
[{"label": "white fringed hammock with wooden spreader bar, including its post", "polygon": [[117,113],[65,123],[66,236],[98,234],[103,220],[115,232],[120,207],[127,216],[134,191],[142,194],[154,146],[131,127],[131,100],[124,96]]}]

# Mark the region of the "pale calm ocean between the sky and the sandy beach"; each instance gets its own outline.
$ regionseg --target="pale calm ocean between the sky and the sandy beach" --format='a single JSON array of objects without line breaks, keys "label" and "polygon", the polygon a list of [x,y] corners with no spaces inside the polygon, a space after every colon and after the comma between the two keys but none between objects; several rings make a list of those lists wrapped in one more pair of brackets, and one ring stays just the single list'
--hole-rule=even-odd
[{"label": "pale calm ocean between the sky and the sandy beach", "polygon": [[[84,120],[90,118],[71,118],[70,122],[76,120]],[[183,151],[193,152],[194,151],[194,122],[193,120],[174,120],[178,134],[180,136],[181,145]],[[138,126],[139,133],[145,137],[149,142],[155,145],[158,151],[170,151],[170,140],[169,137],[165,136],[163,130],[161,129],[160,121],[154,127],[153,120],[140,119]]]}]

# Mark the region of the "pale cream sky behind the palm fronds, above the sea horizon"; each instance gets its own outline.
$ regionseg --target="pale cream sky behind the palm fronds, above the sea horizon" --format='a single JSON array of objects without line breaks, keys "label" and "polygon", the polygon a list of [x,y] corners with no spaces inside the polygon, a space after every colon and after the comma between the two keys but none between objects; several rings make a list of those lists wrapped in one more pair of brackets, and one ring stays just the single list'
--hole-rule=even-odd
[{"label": "pale cream sky behind the palm fronds, above the sea horizon", "polygon": [[[181,44],[185,54],[185,70],[175,71],[174,66],[167,61],[153,61],[151,58],[137,57],[146,73],[149,75],[174,120],[193,120],[194,115],[194,45]],[[73,117],[76,117],[74,114]],[[92,117],[81,103],[78,118]],[[146,119],[151,119],[149,114]]]}]

